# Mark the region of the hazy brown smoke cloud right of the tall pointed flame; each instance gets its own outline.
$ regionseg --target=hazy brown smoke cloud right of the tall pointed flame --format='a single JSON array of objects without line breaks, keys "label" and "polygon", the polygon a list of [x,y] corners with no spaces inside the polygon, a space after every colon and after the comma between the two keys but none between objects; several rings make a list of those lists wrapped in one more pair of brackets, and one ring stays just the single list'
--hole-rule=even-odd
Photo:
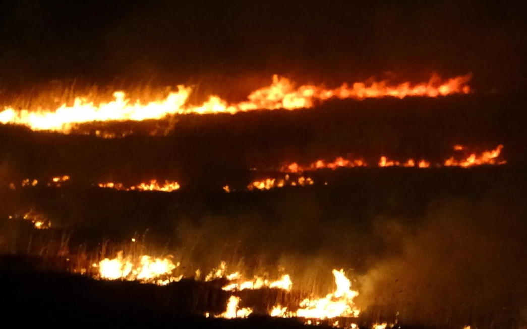
[{"label": "hazy brown smoke cloud right of the tall pointed flame", "polygon": [[520,314],[527,302],[522,208],[514,198],[494,193],[481,201],[437,202],[418,226],[379,223],[393,252],[359,277],[358,305],[414,321],[431,314],[442,321],[454,314],[479,321]]}]

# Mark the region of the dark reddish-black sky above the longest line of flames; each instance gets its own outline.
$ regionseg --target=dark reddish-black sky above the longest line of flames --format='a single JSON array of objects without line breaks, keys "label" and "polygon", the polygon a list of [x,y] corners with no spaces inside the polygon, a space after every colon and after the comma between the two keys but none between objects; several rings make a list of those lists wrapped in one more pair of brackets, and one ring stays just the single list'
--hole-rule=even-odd
[{"label": "dark reddish-black sky above the longest line of flames", "polygon": [[520,2],[476,0],[8,1],[0,84],[272,73],[341,82],[437,71],[519,89],[525,13]]}]

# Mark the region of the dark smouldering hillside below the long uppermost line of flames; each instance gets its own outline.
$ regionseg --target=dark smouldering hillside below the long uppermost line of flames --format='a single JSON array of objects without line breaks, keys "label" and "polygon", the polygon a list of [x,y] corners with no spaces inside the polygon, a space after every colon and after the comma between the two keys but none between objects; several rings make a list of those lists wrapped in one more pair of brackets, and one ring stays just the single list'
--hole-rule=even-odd
[{"label": "dark smouldering hillside below the long uppermost line of flames", "polygon": [[[342,268],[360,314],[311,324],[520,328],[525,105],[514,95],[387,97],[89,123],[69,134],[1,125],[0,285],[13,310],[31,300],[50,317],[292,328],[307,318],[271,318],[271,310],[298,312],[305,298],[334,291],[331,270]],[[468,150],[460,157],[503,145],[506,163],[434,167],[454,145]],[[380,167],[382,156],[401,165]],[[338,157],[368,165],[283,170]],[[409,158],[431,166],[404,167]],[[248,190],[285,175],[298,185]],[[313,184],[300,186],[307,177]],[[99,186],[150,180],[179,185],[170,193]],[[101,262],[118,252],[178,265],[161,286],[105,280]],[[225,271],[204,280],[221,262]],[[287,273],[292,287],[223,289],[235,271],[255,280]],[[231,296],[251,309],[248,318],[214,318]]]}]

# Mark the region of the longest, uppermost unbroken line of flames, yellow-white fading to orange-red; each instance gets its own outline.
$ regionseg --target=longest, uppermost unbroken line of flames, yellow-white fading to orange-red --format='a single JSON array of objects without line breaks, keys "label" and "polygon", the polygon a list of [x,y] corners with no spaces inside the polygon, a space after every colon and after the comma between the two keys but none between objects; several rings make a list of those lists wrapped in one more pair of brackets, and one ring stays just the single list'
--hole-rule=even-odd
[{"label": "longest, uppermost unbroken line of flames, yellow-white fading to orange-red", "polygon": [[[76,97],[71,106],[66,104],[58,108],[38,106],[36,111],[28,109],[15,111],[13,107],[7,106],[0,112],[0,123],[23,125],[33,131],[70,133],[77,125],[83,123],[157,120],[181,114],[234,114],[258,109],[292,110],[313,107],[316,102],[326,101],[329,98],[404,98],[467,94],[470,92],[470,87],[467,85],[470,78],[470,75],[457,76],[442,83],[440,77],[434,74],[427,83],[415,85],[409,82],[398,85],[392,85],[388,81],[356,82],[352,85],[343,84],[336,89],[327,89],[315,85],[295,87],[289,79],[274,75],[270,86],[257,89],[247,97],[248,101],[237,104],[228,104],[220,97],[212,95],[202,105],[186,105],[192,89],[178,85],[177,92],[171,92],[167,98],[145,104],[139,100],[131,101],[124,92],[117,91],[113,94],[113,101],[97,105],[85,97]],[[99,132],[97,136],[115,137],[105,132]]]}]

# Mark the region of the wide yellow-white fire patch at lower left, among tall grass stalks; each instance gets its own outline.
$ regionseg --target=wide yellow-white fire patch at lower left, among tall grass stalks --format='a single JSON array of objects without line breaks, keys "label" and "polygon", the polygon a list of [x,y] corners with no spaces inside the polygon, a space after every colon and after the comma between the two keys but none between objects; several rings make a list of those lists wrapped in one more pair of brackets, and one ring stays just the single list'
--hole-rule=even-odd
[{"label": "wide yellow-white fire patch at lower left, among tall grass stalks", "polygon": [[[153,258],[141,256],[139,261],[132,263],[130,257],[123,259],[123,253],[118,252],[113,260],[105,258],[99,262],[99,275],[106,280],[138,280],[141,282],[151,282],[166,285],[173,281],[181,280],[182,276],[171,276],[172,271],[179,266],[168,258]],[[164,279],[164,280],[163,280]]]}]

